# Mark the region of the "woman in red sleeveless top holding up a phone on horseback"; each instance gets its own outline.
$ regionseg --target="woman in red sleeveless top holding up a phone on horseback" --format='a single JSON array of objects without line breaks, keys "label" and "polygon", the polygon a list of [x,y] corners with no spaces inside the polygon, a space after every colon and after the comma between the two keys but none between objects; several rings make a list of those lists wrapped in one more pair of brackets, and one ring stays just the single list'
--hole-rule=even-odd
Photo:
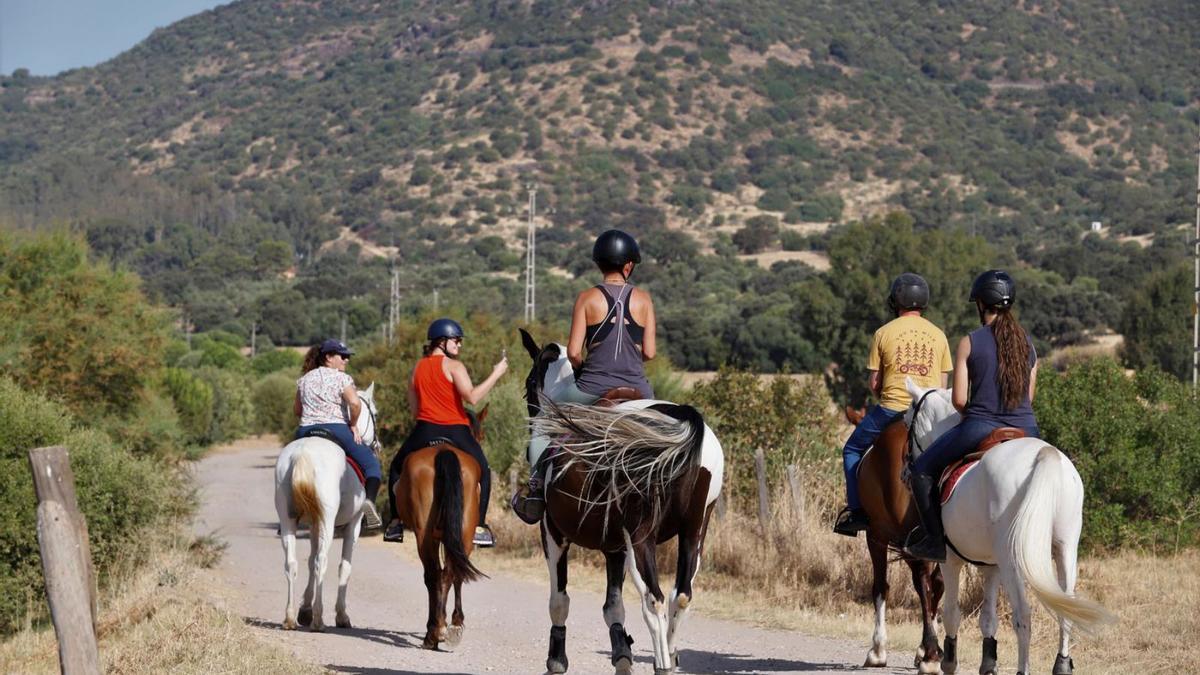
[{"label": "woman in red sleeveless top holding up a phone on horseback", "polygon": [[475,527],[476,546],[494,546],[496,537],[487,526],[487,503],[492,494],[492,471],[487,456],[479,441],[470,431],[470,419],[463,401],[475,406],[487,396],[492,387],[509,370],[508,357],[502,357],[492,368],[492,374],[478,386],[472,384],[467,366],[458,360],[462,351],[463,331],[458,322],[439,318],[430,324],[425,334],[425,356],[416,362],[408,384],[408,408],[416,416],[416,425],[409,432],[404,444],[391,460],[388,470],[388,502],[391,508],[391,522],[384,532],[385,542],[402,542],[404,526],[397,515],[395,485],[404,468],[408,455],[438,442],[449,444],[470,454],[479,462],[480,495],[479,525]]}]

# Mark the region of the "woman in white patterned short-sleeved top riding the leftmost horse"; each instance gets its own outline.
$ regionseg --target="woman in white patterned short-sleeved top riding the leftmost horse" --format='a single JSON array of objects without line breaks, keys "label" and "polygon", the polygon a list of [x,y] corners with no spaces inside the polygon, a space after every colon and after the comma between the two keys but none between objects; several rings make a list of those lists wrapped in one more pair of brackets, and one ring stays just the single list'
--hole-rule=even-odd
[{"label": "woman in white patterned short-sleeved top riding the leftmost horse", "polygon": [[[383,473],[374,450],[362,443],[358,430],[362,401],[359,400],[354,378],[346,375],[346,364],[350,363],[354,352],[340,340],[325,340],[305,353],[300,380],[296,381],[294,410],[300,418],[296,438],[301,438],[314,429],[320,429],[335,438],[347,455],[359,465],[366,478],[366,503],[364,504],[362,528],[378,530],[383,522],[376,510],[374,498],[379,494],[379,482]],[[349,413],[347,420],[342,408]]]}]

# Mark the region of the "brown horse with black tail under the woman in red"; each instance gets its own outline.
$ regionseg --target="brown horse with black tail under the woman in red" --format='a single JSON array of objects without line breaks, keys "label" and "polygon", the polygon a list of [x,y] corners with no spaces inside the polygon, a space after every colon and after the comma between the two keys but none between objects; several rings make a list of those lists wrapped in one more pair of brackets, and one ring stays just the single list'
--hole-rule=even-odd
[{"label": "brown horse with black tail under the woman in red", "polygon": [[[475,418],[472,431],[484,440],[487,407]],[[413,530],[416,552],[425,568],[430,615],[425,623],[425,649],[439,643],[454,647],[462,639],[462,584],[486,577],[470,562],[475,522],[479,522],[480,467],[475,458],[443,443],[414,452],[404,460],[396,480],[400,519]],[[444,565],[443,565],[444,560]],[[454,587],[454,616],[446,627],[446,598]]]}]

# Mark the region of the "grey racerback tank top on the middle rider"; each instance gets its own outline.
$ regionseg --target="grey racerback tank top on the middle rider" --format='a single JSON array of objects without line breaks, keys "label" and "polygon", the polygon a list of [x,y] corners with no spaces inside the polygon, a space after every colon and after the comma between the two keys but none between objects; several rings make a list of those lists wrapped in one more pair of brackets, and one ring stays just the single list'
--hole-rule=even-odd
[{"label": "grey racerback tank top on the middle rider", "polygon": [[[608,312],[600,325],[612,323],[612,330],[596,330],[588,341],[588,356],[583,359],[575,386],[586,394],[602,396],[608,389],[632,387],[647,399],[654,398],[650,382],[646,378],[646,366],[642,365],[642,352],[625,325],[629,315],[629,298],[634,287],[629,283],[618,286],[605,283],[600,287],[608,303]],[[632,319],[630,319],[632,321]]]}]

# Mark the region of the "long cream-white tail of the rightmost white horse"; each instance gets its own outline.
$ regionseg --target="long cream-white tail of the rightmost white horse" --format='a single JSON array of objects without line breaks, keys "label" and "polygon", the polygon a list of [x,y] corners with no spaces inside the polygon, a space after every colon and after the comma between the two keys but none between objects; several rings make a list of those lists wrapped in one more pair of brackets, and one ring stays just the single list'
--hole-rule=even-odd
[{"label": "long cream-white tail of the rightmost white horse", "polygon": [[1090,631],[1111,621],[1112,615],[1099,603],[1063,591],[1054,568],[1054,519],[1064,479],[1058,449],[1043,446],[1008,531],[1008,552],[1046,609]]}]

